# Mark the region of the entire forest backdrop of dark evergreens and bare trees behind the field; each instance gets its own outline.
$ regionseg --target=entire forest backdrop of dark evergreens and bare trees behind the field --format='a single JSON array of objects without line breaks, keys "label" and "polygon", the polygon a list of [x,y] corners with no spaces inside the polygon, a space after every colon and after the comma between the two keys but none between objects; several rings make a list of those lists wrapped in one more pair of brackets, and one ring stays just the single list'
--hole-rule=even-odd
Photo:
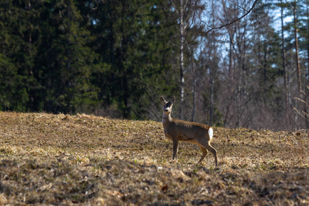
[{"label": "entire forest backdrop of dark evergreens and bare trees behind the field", "polygon": [[309,128],[309,1],[1,0],[0,111]]}]

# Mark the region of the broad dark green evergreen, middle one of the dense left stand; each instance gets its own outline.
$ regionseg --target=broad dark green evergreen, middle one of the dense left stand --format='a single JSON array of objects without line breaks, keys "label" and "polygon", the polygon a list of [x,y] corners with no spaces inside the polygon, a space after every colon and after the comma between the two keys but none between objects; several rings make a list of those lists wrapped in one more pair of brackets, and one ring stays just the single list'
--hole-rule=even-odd
[{"label": "broad dark green evergreen, middle one of the dense left stand", "polygon": [[90,32],[82,25],[76,3],[46,3],[38,67],[41,67],[44,110],[54,113],[89,112],[98,104],[97,89],[91,84],[95,54]]}]

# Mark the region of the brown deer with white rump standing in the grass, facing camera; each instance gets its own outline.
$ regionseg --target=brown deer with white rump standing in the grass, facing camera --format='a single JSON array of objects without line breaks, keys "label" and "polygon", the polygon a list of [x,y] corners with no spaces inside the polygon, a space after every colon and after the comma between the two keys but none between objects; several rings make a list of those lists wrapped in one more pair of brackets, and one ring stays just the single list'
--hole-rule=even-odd
[{"label": "brown deer with white rump standing in the grass, facing camera", "polygon": [[178,142],[184,141],[191,144],[196,144],[201,148],[203,156],[198,161],[201,163],[208,151],[214,155],[216,167],[218,167],[217,150],[210,143],[214,131],[210,126],[199,124],[196,122],[186,122],[181,119],[171,117],[172,106],[175,102],[175,97],[167,102],[163,96],[160,98],[162,103],[163,117],[162,124],[165,136],[172,140],[173,143],[173,160],[177,159]]}]

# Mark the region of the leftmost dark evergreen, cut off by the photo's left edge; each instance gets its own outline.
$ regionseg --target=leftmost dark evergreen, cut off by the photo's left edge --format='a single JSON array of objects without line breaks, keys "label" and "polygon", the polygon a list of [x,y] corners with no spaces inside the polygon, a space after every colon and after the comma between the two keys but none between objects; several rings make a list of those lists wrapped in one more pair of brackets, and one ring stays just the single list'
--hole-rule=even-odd
[{"label": "leftmost dark evergreen, cut off by the photo's left edge", "polygon": [[36,51],[34,21],[37,13],[31,3],[0,3],[0,109],[27,111],[33,101],[31,88]]}]

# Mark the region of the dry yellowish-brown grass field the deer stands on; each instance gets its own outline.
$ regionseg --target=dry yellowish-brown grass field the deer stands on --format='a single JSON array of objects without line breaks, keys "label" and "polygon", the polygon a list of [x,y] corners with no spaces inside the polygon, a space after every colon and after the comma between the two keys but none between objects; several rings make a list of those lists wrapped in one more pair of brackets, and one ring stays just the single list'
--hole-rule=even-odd
[{"label": "dry yellowish-brown grass field the deer stands on", "polygon": [[198,146],[160,122],[0,112],[0,205],[309,205],[308,131],[214,128]]}]

